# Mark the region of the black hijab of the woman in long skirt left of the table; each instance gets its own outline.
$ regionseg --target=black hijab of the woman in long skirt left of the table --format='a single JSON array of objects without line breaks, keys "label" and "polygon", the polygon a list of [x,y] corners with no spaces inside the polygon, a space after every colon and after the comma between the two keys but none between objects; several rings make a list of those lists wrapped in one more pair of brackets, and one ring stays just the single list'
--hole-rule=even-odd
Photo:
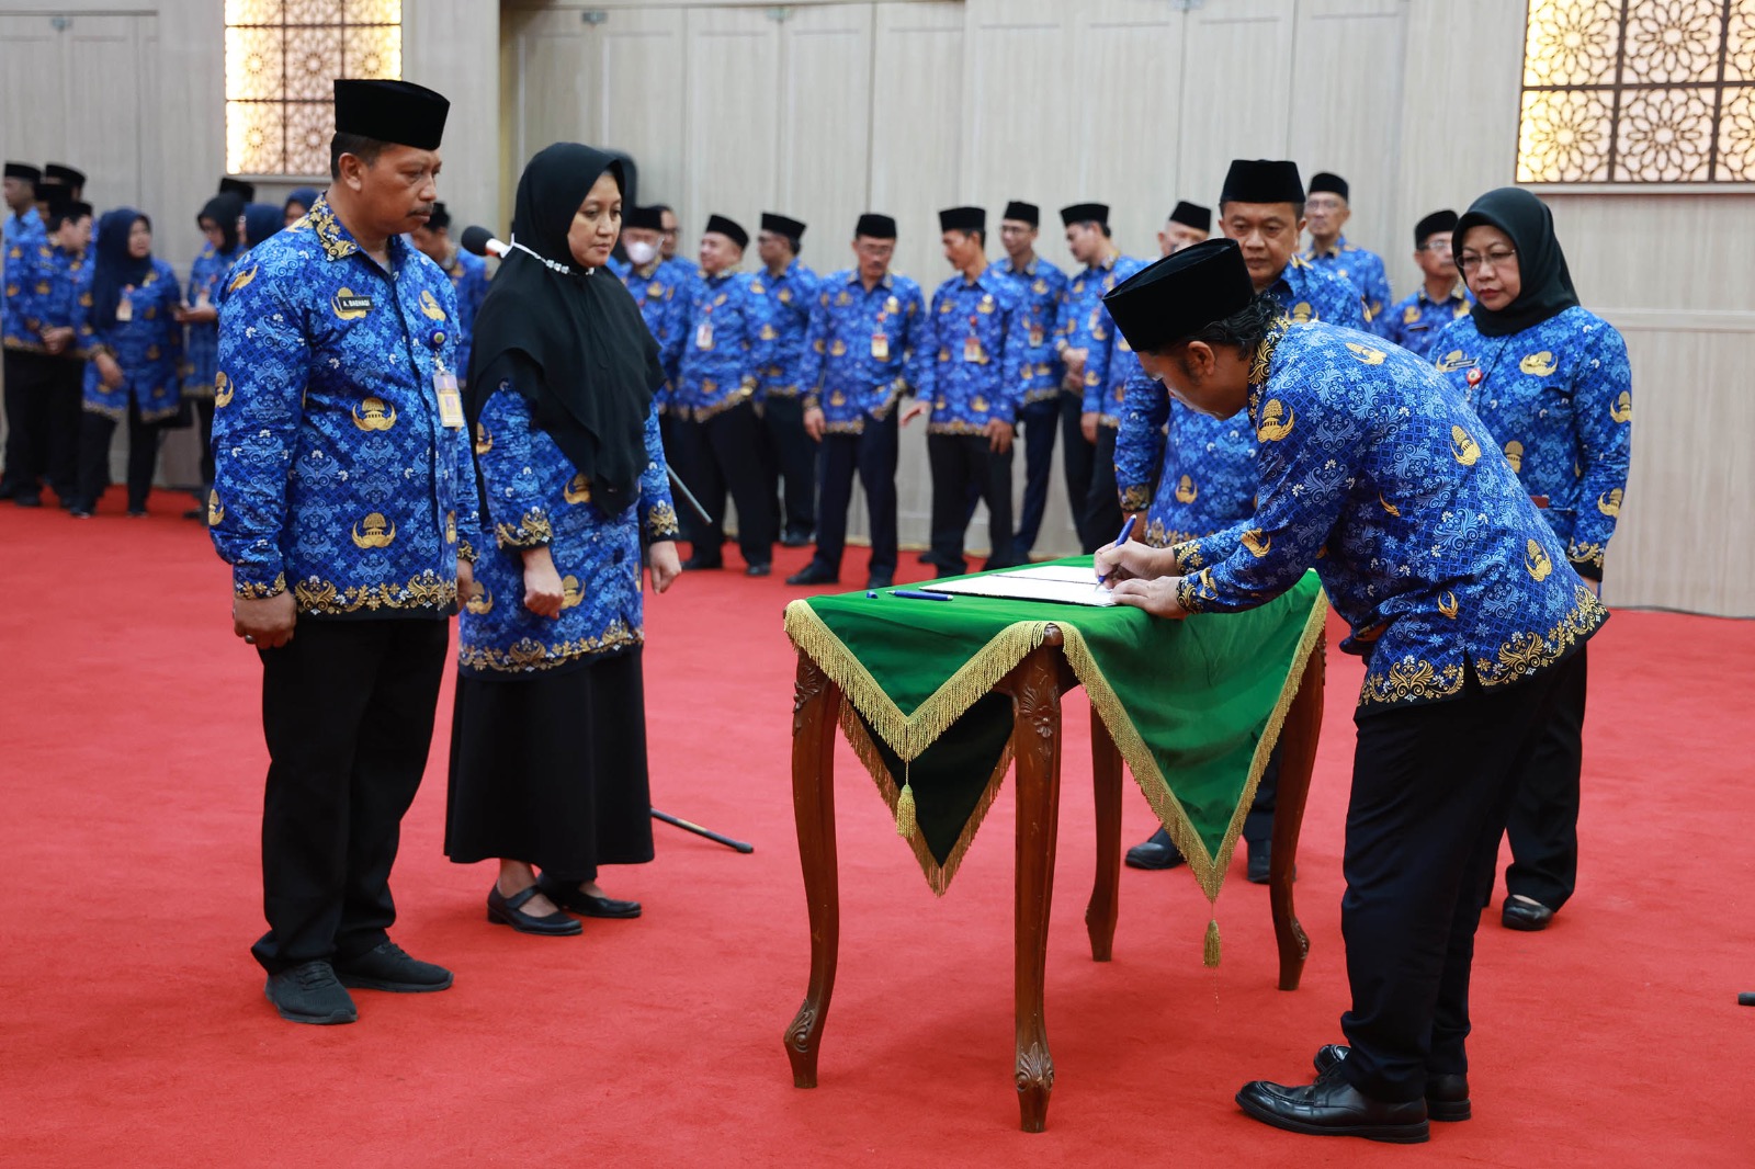
[{"label": "black hijab of the woman in long skirt left of the table", "polygon": [[537,427],[591,481],[591,502],[612,516],[646,467],[646,414],[663,365],[614,272],[586,272],[567,246],[574,212],[605,170],[621,186],[621,163],[577,142],[556,142],[525,167],[516,247],[476,314],[467,411],[474,432],[488,395],[511,381]]}]

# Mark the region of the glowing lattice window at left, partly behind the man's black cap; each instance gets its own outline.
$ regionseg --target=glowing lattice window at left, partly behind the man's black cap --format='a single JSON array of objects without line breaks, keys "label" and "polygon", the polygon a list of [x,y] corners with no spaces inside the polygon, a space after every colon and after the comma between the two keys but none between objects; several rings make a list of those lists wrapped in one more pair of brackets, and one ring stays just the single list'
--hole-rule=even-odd
[{"label": "glowing lattice window at left, partly behind the man's black cap", "polygon": [[225,167],[326,176],[335,77],[402,75],[402,0],[225,0]]}]

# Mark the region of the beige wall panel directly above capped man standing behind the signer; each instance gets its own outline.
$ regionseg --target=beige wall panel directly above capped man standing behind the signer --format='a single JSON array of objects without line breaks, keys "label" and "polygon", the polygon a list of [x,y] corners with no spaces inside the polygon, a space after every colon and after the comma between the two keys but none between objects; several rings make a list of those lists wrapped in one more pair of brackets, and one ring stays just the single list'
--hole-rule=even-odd
[{"label": "beige wall panel directly above capped man standing behind the signer", "polygon": [[1225,0],[1188,14],[1181,198],[1218,204],[1232,158],[1286,158],[1293,7],[1293,0]]}]

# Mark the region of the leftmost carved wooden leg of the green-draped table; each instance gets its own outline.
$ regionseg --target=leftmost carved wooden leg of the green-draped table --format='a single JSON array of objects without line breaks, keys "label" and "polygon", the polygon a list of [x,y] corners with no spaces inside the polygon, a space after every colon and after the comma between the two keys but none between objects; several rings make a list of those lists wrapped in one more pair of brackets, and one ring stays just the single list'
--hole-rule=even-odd
[{"label": "leftmost carved wooden leg of the green-draped table", "polygon": [[816,1087],[816,1050],[823,1041],[841,950],[835,867],[835,725],[841,700],[841,686],[800,651],[792,706],[792,811],[811,913],[811,985],[783,1037],[792,1060],[792,1083],[799,1088]]}]

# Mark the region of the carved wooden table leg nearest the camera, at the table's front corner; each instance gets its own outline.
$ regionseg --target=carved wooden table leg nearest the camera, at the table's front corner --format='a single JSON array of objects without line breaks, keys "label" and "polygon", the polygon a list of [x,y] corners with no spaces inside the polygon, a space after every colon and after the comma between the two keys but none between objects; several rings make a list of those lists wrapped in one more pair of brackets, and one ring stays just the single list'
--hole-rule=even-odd
[{"label": "carved wooden table leg nearest the camera, at the table's front corner", "polygon": [[1042,979],[1048,962],[1048,909],[1055,886],[1055,830],[1060,821],[1058,630],[1011,676],[1018,758],[1016,1037],[1018,1111],[1025,1132],[1048,1125],[1055,1060],[1048,1055]]}]

